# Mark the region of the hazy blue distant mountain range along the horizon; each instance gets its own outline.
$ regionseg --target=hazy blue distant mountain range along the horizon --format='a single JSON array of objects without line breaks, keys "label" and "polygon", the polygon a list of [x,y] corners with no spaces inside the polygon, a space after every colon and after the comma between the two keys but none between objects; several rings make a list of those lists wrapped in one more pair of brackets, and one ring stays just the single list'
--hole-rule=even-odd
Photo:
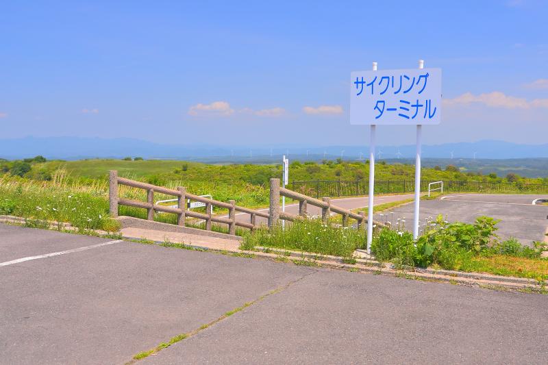
[{"label": "hazy blue distant mountain range along the horizon", "polygon": [[[124,158],[140,156],[154,159],[184,160],[279,160],[280,155],[293,160],[366,159],[368,146],[297,147],[282,144],[247,147],[208,144],[175,145],[132,138],[25,137],[0,140],[0,158],[14,160],[43,155],[48,159],[79,160],[83,158]],[[415,146],[379,146],[376,158],[412,158]],[[498,140],[423,145],[424,158],[511,159],[548,158],[548,144],[517,144]]]}]

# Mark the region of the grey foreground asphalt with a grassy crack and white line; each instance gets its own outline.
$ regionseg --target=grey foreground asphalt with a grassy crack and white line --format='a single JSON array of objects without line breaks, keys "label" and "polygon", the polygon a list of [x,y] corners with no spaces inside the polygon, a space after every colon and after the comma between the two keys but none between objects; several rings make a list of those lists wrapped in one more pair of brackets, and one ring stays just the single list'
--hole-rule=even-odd
[{"label": "grey foreground asphalt with a grassy crack and white line", "polygon": [[0,248],[0,364],[123,364],[276,288],[142,362],[548,362],[540,294],[1,224]]}]

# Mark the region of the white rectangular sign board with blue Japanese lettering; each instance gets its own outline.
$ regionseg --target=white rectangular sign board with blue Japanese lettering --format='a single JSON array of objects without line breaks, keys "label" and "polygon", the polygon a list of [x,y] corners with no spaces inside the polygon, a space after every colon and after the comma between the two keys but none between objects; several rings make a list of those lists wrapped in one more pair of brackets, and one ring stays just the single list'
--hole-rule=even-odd
[{"label": "white rectangular sign board with blue Japanese lettering", "polygon": [[355,71],[350,81],[350,124],[440,124],[440,68]]}]

